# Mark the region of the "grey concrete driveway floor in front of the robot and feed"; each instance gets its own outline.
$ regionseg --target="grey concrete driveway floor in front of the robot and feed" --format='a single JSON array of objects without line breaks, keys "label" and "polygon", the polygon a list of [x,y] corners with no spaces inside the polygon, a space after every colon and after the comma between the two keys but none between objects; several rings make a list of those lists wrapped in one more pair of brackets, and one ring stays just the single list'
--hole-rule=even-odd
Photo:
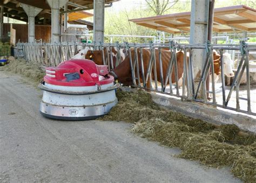
[{"label": "grey concrete driveway floor in front of the robot and feed", "polygon": [[241,182],[228,168],[178,159],[111,121],[39,114],[42,91],[0,67],[0,182]]}]

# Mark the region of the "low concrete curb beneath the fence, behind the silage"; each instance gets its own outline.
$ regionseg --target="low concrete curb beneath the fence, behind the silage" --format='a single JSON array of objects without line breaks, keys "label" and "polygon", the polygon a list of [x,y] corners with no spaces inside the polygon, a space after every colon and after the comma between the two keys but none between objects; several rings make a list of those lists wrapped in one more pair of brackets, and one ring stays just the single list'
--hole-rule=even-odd
[{"label": "low concrete curb beneath the fence, behind the silage", "polygon": [[218,110],[212,106],[197,102],[185,102],[176,98],[151,93],[152,100],[172,111],[186,116],[202,119],[214,124],[235,124],[240,129],[256,132],[256,119],[239,114]]}]

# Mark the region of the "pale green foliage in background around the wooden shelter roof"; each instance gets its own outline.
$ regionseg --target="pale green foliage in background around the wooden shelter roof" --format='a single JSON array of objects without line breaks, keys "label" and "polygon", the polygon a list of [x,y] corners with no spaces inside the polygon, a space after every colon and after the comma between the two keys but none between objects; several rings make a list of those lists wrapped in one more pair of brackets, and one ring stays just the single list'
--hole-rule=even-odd
[{"label": "pale green foliage in background around the wooden shelter roof", "polygon": [[[147,2],[157,2],[156,0],[147,0]],[[159,0],[160,5],[163,4],[164,0]],[[176,0],[172,0],[170,2],[176,2]],[[169,2],[169,3],[170,3]],[[152,4],[154,5],[154,4]],[[157,31],[154,29],[150,29],[144,27],[142,25],[137,25],[129,21],[129,19],[137,19],[137,18],[145,18],[156,16],[156,10],[152,10],[152,5],[149,6],[146,3],[146,0],[141,3],[138,3],[137,6],[133,5],[133,9],[125,9],[124,11],[105,11],[105,34],[119,34],[119,35],[139,35],[139,36],[157,36]],[[166,11],[163,12],[164,15],[170,13],[178,13],[178,12],[188,12],[191,9],[191,0],[179,0],[177,3],[167,4]],[[250,8],[256,9],[255,0],[215,0],[215,8],[222,8],[225,6],[232,5],[246,5]],[[155,6],[156,8],[156,6]],[[169,36],[169,34],[165,34],[165,36]],[[178,35],[177,35],[178,36]],[[147,43],[152,39],[145,38],[113,38],[112,42],[124,42],[129,41],[131,43]],[[105,38],[105,42],[108,43],[110,38]],[[255,38],[250,38],[250,42],[255,41]],[[224,42],[224,41],[220,41]],[[218,41],[219,43],[219,41]]]}]

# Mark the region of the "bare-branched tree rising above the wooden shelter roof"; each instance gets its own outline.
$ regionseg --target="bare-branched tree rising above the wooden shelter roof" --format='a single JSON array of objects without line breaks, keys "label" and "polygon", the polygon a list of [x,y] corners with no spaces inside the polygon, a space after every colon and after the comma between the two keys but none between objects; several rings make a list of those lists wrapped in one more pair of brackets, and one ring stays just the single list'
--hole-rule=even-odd
[{"label": "bare-branched tree rising above the wooden shelter roof", "polygon": [[146,0],[147,5],[156,15],[163,15],[170,10],[179,0]]}]

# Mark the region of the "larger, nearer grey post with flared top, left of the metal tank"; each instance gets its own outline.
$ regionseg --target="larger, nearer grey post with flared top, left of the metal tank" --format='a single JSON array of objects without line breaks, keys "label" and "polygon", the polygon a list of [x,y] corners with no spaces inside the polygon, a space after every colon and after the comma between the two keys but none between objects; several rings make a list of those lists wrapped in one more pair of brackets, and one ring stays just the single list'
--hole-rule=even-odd
[{"label": "larger, nearer grey post with flared top, left of the metal tank", "polygon": [[64,6],[69,0],[47,0],[51,8],[51,43],[59,43],[59,8]]}]

